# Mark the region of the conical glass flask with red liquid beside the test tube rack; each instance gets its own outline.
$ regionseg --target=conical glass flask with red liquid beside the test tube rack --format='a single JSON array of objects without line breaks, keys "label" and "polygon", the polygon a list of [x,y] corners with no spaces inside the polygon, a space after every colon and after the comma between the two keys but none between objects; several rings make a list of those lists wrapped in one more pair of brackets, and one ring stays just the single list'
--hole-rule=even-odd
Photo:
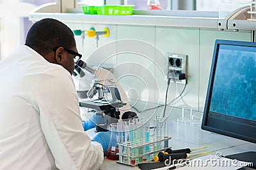
[{"label": "conical glass flask with red liquid beside the test tube rack", "polygon": [[119,156],[116,155],[116,153],[119,152],[118,150],[118,124],[117,123],[112,123],[110,124],[111,127],[111,136],[110,136],[110,141],[109,141],[109,146],[108,146],[108,151],[106,153],[106,156],[110,160],[119,160]]}]

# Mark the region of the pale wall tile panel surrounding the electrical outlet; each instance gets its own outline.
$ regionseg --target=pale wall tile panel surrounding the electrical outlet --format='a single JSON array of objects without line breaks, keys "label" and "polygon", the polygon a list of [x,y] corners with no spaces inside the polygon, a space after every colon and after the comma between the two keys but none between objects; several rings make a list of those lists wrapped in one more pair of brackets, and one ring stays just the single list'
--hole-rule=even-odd
[{"label": "pale wall tile panel surrounding the electrical outlet", "polygon": [[[199,29],[179,29],[168,27],[156,27],[156,46],[164,53],[179,53],[188,55],[188,85],[184,94],[175,106],[184,108],[198,108],[198,72],[199,72]],[[161,67],[167,70],[167,62],[162,60]],[[170,84],[168,101],[179,96],[184,85]],[[161,94],[165,94],[166,88],[161,87]],[[176,95],[172,95],[175,94]],[[164,100],[164,95],[162,101]]]}]

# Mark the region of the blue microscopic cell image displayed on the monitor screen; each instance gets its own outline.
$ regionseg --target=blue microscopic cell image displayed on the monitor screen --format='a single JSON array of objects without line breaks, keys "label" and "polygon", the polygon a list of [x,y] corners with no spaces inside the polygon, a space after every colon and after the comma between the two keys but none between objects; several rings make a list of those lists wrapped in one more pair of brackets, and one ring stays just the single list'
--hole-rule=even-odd
[{"label": "blue microscopic cell image displayed on the monitor screen", "polygon": [[253,51],[221,49],[210,110],[256,120],[256,55]]}]

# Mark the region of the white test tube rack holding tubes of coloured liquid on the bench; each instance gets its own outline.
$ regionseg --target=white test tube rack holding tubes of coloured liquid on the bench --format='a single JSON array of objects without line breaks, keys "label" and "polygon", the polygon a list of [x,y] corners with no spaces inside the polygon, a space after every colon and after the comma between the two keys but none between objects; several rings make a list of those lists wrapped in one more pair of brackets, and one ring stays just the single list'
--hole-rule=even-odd
[{"label": "white test tube rack holding tubes of coloured liquid on the bench", "polygon": [[[150,139],[153,139],[152,136],[150,136]],[[124,144],[124,143],[117,143],[118,144],[118,150],[119,153],[116,153],[117,155],[119,155],[119,160],[116,161],[117,163],[120,164],[125,164],[128,166],[138,166],[138,164],[142,163],[142,162],[148,162],[154,159],[154,153],[159,153],[162,152],[164,150],[166,150],[167,148],[171,148],[171,147],[163,147],[163,148],[157,148],[157,150],[151,150],[151,148],[154,148],[154,145],[158,145],[160,143],[164,143],[164,141],[168,141],[172,139],[171,137],[165,137],[162,139],[157,139],[156,141],[152,141],[148,142],[148,143],[143,143],[140,145],[136,145],[136,146],[131,146],[131,144]],[[137,154],[137,155],[132,155],[132,152],[135,152],[136,149],[145,149],[145,147],[149,146],[150,151],[147,153],[142,153],[142,154]],[[126,152],[124,152],[124,150],[126,150]],[[150,157],[150,159],[147,160],[143,160],[143,157]],[[132,162],[132,160],[134,160],[134,162]]]}]

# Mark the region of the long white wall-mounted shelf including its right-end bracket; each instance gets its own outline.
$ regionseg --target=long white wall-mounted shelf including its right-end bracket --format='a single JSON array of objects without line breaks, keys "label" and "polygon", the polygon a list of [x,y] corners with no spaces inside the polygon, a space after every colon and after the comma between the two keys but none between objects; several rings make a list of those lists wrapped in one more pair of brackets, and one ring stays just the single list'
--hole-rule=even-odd
[{"label": "long white wall-mounted shelf including its right-end bracket", "polygon": [[[51,6],[56,6],[52,5]],[[212,11],[147,11],[135,10],[133,15],[84,15],[80,8],[74,8],[70,13],[51,12],[50,6],[36,9],[29,15],[29,20],[36,22],[42,18],[56,18],[63,22],[90,24],[120,24],[120,25],[152,25],[166,27],[187,27],[223,30],[255,30],[255,20],[247,20],[250,6],[244,6],[230,13],[225,18],[218,18],[218,12]],[[51,9],[49,11],[49,9]]]}]

